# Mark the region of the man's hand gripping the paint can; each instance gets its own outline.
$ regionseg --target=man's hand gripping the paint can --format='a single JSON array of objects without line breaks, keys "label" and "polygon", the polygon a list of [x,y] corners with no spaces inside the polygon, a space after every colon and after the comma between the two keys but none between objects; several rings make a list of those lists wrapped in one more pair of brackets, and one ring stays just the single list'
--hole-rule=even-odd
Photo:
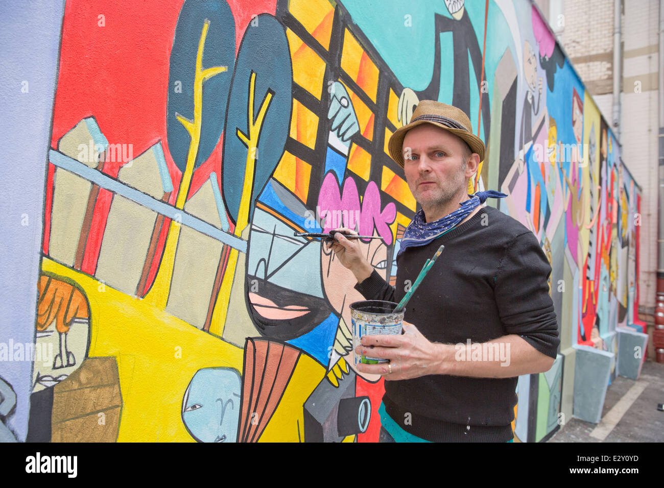
[{"label": "man's hand gripping the paint can", "polygon": [[[402,335],[366,335],[362,345],[355,349],[357,355],[389,359],[390,365],[365,365],[357,370],[369,374],[382,374],[385,380],[407,380],[426,374],[436,374],[442,358],[436,345],[431,343],[412,323],[403,323]],[[390,372],[390,366],[392,372]]]}]

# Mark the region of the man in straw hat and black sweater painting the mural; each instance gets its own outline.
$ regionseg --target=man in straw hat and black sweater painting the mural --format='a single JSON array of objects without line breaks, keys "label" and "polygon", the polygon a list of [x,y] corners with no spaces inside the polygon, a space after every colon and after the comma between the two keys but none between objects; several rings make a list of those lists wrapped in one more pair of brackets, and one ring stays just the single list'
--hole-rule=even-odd
[{"label": "man in straw hat and black sweater painting the mural", "polygon": [[401,241],[396,288],[356,241],[337,233],[333,250],[367,299],[398,302],[445,248],[408,301],[404,334],[363,337],[355,351],[389,360],[357,365],[386,380],[381,440],[507,442],[517,376],[544,372],[556,357],[551,268],[530,230],[480,206],[505,195],[467,195],[485,149],[461,110],[422,100],[388,147],[422,207]]}]

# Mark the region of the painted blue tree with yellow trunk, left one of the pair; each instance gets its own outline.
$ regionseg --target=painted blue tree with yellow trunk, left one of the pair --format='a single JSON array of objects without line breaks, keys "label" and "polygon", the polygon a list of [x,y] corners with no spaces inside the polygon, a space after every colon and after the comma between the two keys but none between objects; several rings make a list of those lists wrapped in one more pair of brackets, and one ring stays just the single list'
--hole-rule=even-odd
[{"label": "painted blue tree with yellow trunk, left one of the pair", "polygon": [[[235,21],[224,0],[187,0],[175,28],[169,66],[167,114],[168,147],[182,171],[175,207],[187,201],[191,178],[219,141],[220,114],[226,111],[234,64]],[[203,90],[205,86],[205,90]],[[172,220],[166,245],[149,293],[150,303],[166,306],[180,223]]]}]

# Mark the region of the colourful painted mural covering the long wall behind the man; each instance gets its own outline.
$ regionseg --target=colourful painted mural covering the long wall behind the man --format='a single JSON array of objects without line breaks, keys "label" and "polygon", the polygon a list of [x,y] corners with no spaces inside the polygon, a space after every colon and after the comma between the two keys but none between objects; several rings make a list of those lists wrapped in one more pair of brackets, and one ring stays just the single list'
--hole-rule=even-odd
[{"label": "colourful painted mural covering the long wall behind the man", "polygon": [[514,427],[559,427],[574,347],[641,331],[639,187],[529,1],[406,4],[66,2],[35,321],[13,325],[54,353],[7,383],[19,440],[376,441],[355,278],[293,234],[380,236],[362,246],[394,283],[417,208],[386,143],[423,99],[468,114],[469,191],[507,193],[489,204],[550,261],[560,354],[519,379]]}]

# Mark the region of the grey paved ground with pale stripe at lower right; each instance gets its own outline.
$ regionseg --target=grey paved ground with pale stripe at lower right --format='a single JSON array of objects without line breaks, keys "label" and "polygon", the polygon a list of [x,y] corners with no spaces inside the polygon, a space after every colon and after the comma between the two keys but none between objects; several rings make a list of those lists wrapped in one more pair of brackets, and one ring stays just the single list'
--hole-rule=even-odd
[{"label": "grey paved ground with pale stripe at lower right", "polygon": [[659,403],[664,403],[664,364],[646,360],[638,380],[618,376],[610,384],[599,424],[572,418],[548,442],[664,442]]}]

